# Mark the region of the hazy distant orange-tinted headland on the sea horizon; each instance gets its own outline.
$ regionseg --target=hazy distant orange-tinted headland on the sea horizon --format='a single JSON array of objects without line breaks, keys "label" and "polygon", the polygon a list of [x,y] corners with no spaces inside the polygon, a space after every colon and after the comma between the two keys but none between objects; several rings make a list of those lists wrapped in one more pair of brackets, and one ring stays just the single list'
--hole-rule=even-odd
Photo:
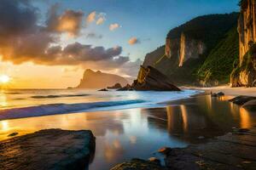
[{"label": "hazy distant orange-tinted headland on the sea horizon", "polygon": [[107,88],[115,83],[125,86],[128,82],[124,77],[87,69],[77,88]]}]

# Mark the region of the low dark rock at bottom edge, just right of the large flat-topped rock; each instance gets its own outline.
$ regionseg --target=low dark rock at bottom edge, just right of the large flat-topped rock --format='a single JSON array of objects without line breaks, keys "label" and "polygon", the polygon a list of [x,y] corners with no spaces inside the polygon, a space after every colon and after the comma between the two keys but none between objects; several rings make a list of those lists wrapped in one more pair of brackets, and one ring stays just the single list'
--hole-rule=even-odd
[{"label": "low dark rock at bottom edge, just right of the large flat-topped rock", "polygon": [[166,170],[166,167],[161,167],[159,163],[154,161],[134,158],[131,161],[116,165],[111,170]]}]

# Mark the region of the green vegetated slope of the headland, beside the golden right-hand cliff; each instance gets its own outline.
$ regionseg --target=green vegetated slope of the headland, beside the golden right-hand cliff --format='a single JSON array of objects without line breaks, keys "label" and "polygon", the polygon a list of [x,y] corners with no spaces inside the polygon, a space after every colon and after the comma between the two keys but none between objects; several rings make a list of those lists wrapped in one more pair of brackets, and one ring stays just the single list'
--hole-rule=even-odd
[{"label": "green vegetated slope of the headland, beside the golden right-hand cliff", "polygon": [[236,27],[218,42],[197,72],[202,82],[229,82],[233,63],[239,58],[239,42]]}]

